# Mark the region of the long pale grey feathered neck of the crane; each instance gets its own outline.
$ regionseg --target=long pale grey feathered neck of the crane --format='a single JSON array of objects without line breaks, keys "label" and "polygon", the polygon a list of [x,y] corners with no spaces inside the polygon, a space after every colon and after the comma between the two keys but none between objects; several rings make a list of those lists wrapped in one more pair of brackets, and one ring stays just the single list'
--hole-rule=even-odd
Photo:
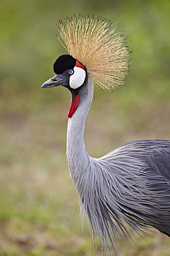
[{"label": "long pale grey feathered neck of the crane", "polygon": [[[69,118],[67,125],[67,161],[74,183],[76,176],[87,170],[89,166],[89,156],[83,141],[85,118],[92,103],[94,86],[88,77],[86,84],[80,90],[80,102],[76,112]],[[76,175],[75,175],[76,174]]]}]

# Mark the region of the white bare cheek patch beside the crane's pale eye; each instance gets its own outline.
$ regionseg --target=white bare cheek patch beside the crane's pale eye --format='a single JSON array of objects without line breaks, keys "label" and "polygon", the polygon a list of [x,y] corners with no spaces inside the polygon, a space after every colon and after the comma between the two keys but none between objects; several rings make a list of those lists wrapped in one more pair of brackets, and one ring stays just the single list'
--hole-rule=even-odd
[{"label": "white bare cheek patch beside the crane's pale eye", "polygon": [[83,68],[78,68],[74,66],[74,74],[70,75],[70,87],[76,89],[80,87],[83,82],[85,82],[85,70]]}]

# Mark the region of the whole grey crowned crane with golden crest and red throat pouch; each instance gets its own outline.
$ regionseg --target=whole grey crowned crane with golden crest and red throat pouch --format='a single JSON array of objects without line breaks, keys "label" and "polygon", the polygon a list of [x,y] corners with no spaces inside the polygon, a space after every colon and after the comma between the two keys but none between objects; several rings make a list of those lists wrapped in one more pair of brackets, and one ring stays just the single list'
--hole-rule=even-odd
[{"label": "whole grey crowned crane with golden crest and red throat pouch", "polygon": [[[59,21],[67,53],[54,62],[54,77],[41,86],[63,86],[72,95],[67,113],[67,162],[93,241],[103,255],[131,229],[156,228],[170,237],[170,140],[134,140],[100,158],[87,154],[83,134],[94,86],[112,92],[131,68],[127,37],[108,18],[73,15]],[[101,119],[102,120],[102,119]]]}]

